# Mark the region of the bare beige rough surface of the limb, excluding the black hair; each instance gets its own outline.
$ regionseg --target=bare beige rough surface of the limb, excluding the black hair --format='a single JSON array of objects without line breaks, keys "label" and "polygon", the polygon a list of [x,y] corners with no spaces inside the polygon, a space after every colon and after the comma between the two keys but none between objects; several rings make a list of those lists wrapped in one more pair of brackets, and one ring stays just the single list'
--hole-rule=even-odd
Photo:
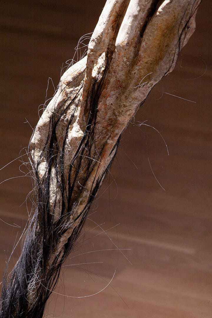
[{"label": "bare beige rough surface of the limb, excluding the black hair", "polygon": [[[48,143],[51,117],[55,113],[62,114],[65,110],[56,131],[58,146],[62,151],[64,138],[61,136],[64,136],[67,122],[76,107],[63,150],[65,182],[68,183],[69,177],[72,180],[76,167],[73,176],[68,176],[68,170],[70,165],[74,165],[75,156],[80,152],[79,143],[89,117],[91,89],[96,80],[102,80],[106,71],[104,87],[98,104],[95,105],[95,140],[92,149],[83,149],[82,155],[92,158],[92,170],[86,181],[84,171],[78,175],[75,188],[78,201],[74,202],[76,209],[71,215],[71,222],[85,208],[99,176],[105,172],[113,157],[112,149],[140,104],[153,86],[173,70],[180,49],[195,30],[196,7],[200,1],[160,1],[159,5],[158,1],[131,0],[125,12],[128,3],[129,1],[106,2],[89,43],[87,57],[69,68],[61,77],[58,92],[44,111],[31,140],[32,157],[38,165],[39,178],[42,179],[48,160],[44,147]],[[122,19],[120,29],[117,29]],[[77,99],[71,107],[66,108],[76,92]],[[50,187],[51,209],[55,218],[58,218],[60,194],[54,167]],[[56,211],[55,200],[58,206]],[[69,237],[70,231],[72,227],[65,233],[65,237]],[[57,249],[64,244],[64,240],[62,237]]]}]

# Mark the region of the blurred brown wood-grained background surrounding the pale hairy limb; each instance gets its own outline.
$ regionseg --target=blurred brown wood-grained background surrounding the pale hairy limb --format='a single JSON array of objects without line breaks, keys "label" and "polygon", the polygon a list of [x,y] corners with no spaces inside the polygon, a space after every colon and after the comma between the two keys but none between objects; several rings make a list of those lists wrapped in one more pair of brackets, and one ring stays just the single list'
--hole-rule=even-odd
[{"label": "blurred brown wood-grained background surrounding the pale hairy limb", "polygon": [[[104,3],[0,1],[0,167],[28,160],[38,107]],[[55,292],[96,294],[116,271],[111,284],[91,297],[53,294],[45,317],[212,317],[211,9],[204,0],[176,69],[124,132]],[[32,182],[20,160],[0,171],[0,182],[17,177],[0,184],[0,276],[28,218]],[[19,254],[18,245],[10,268]]]}]

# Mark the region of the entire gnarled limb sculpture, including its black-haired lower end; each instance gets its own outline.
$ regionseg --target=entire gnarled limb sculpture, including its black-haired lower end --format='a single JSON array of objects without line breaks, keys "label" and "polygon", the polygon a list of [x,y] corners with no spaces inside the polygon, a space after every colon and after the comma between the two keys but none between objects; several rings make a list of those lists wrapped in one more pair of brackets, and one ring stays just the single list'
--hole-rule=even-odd
[{"label": "entire gnarled limb sculpture, including its black-haired lower end", "polygon": [[1,318],[42,317],[120,135],[175,66],[201,0],[108,0],[87,56],[61,77],[31,138],[37,206]]}]

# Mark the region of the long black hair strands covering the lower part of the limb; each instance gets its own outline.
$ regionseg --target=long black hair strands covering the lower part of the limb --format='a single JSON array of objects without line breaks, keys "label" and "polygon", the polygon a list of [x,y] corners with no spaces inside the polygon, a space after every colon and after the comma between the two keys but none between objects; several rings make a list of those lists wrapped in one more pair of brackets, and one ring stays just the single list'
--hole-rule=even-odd
[{"label": "long black hair strands covering the lower part of the limb", "polygon": [[[108,56],[106,57],[106,63],[109,63]],[[107,67],[104,72],[106,73]],[[76,205],[79,204],[80,191],[76,193],[74,190],[76,183],[78,182],[78,175],[80,171],[85,168],[84,184],[92,171],[92,167],[95,161],[92,158],[91,149],[95,144],[95,123],[96,113],[99,96],[104,86],[104,74],[101,79],[96,79],[92,88],[89,102],[89,115],[86,122],[86,128],[84,135],[78,145],[76,156],[73,158],[73,162],[70,164],[69,176],[71,176],[71,170],[77,167],[75,171],[75,178],[73,181],[68,180],[68,187],[64,182],[64,149],[58,147],[58,140],[56,136],[56,129],[59,120],[67,111],[67,108],[71,107],[71,104],[81,93],[81,89],[76,93],[75,97],[69,103],[61,114],[54,113],[49,127],[49,135],[47,138],[45,151],[48,153],[48,161],[45,166],[45,172],[42,179],[39,178],[38,166],[40,162],[31,162],[33,168],[33,178],[36,180],[35,192],[37,193],[36,210],[34,211],[30,225],[25,233],[25,241],[20,258],[18,259],[13,271],[8,274],[5,272],[3,278],[2,294],[1,294],[1,314],[0,317],[42,317],[44,313],[45,303],[51,295],[54,287],[57,284],[61,266],[65,259],[69,255],[80,230],[85,222],[86,215],[89,208],[95,198],[95,195],[102,183],[107,171],[113,161],[116,153],[116,149],[119,144],[117,141],[114,149],[112,150],[113,157],[105,169],[105,172],[101,175],[95,187],[90,193],[90,198],[81,211],[80,215],[72,220]],[[65,104],[65,102],[64,102]],[[75,110],[74,110],[75,111]],[[73,112],[74,113],[74,112]],[[67,139],[68,128],[72,124],[73,115],[67,125],[67,130],[64,138],[63,145],[65,147],[65,141]],[[82,145],[84,145],[82,147]],[[95,146],[94,146],[95,147]],[[86,153],[85,153],[86,149]],[[89,150],[90,149],[90,150]],[[98,153],[101,156],[101,149],[98,149]],[[115,151],[114,151],[115,150]],[[86,157],[86,159],[85,159]],[[82,167],[86,164],[86,167]],[[54,204],[54,211],[50,211],[50,178],[51,169],[54,167],[56,171],[57,183],[61,194],[60,202],[60,215],[57,220],[54,220],[55,214],[58,213],[57,203]],[[57,210],[57,211],[56,211]],[[54,213],[55,212],[55,213]],[[75,226],[73,223],[78,223]],[[67,230],[73,227],[71,236],[67,239],[63,249],[57,251],[57,245],[59,239],[65,234]],[[51,267],[49,267],[49,260],[52,257],[52,253],[55,253]],[[32,301],[29,302],[29,297]]]}]

